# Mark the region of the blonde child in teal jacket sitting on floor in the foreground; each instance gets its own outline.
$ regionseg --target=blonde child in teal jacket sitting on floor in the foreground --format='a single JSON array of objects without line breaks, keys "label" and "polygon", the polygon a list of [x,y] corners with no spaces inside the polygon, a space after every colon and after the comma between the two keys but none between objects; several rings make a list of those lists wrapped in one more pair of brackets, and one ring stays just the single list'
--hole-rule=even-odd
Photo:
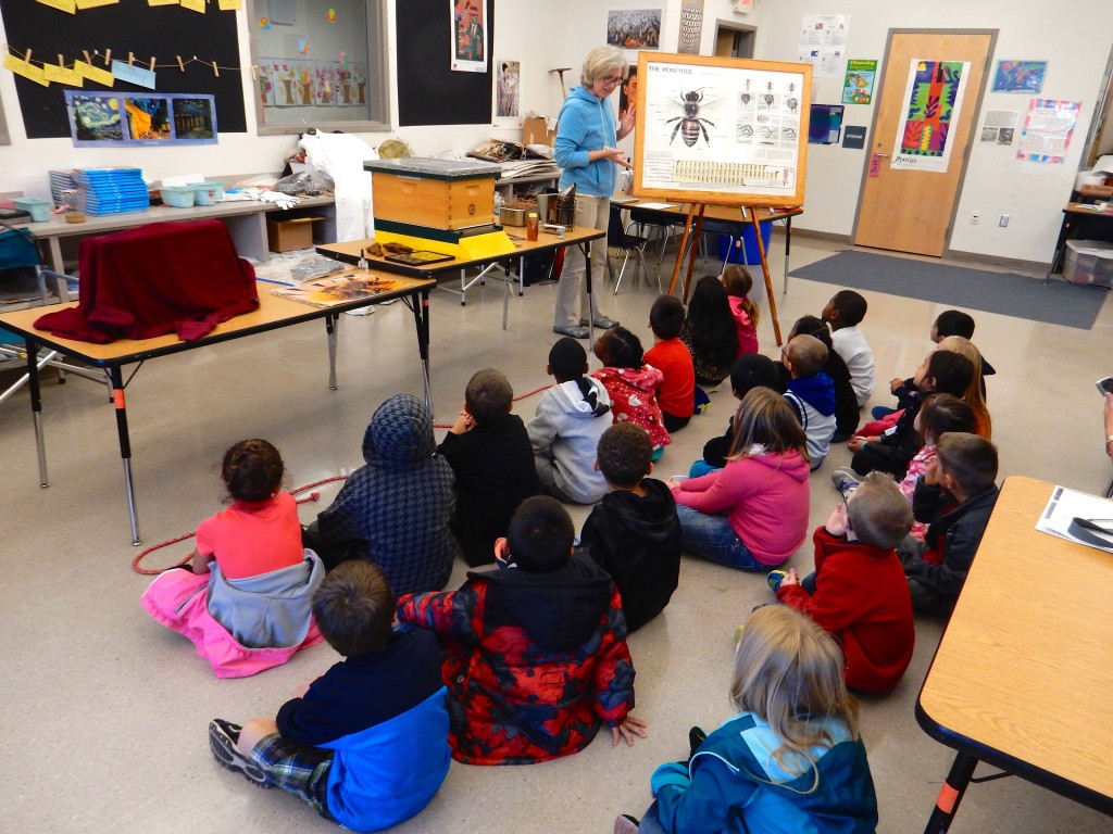
[{"label": "blonde child in teal jacket sitting on floor in the foreground", "polygon": [[876,831],[858,704],[834,637],[787,606],[755,609],[730,699],[738,714],[709,736],[692,727],[691,757],[658,767],[656,802],[640,823],[615,820],[614,834]]}]

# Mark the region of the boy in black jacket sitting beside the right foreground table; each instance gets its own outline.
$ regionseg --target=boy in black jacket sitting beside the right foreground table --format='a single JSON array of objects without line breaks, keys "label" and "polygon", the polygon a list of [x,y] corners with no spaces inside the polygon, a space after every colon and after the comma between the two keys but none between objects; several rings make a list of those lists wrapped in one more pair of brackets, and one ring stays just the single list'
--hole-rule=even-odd
[{"label": "boy in black jacket sitting beside the right foreground table", "polygon": [[962,431],[943,435],[936,447],[913,494],[913,515],[929,524],[927,533],[923,542],[905,538],[897,556],[913,609],[949,617],[997,503],[997,449]]}]

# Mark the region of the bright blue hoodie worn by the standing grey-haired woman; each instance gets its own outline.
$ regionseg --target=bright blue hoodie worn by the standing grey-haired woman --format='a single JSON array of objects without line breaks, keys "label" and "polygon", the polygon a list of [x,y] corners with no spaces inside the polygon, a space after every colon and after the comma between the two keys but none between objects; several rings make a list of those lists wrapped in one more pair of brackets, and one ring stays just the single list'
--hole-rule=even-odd
[{"label": "bright blue hoodie worn by the standing grey-haired woman", "polygon": [[587,87],[577,87],[564,99],[556,117],[556,165],[563,170],[560,187],[575,186],[577,193],[610,197],[614,193],[615,163],[609,159],[588,161],[588,153],[618,143],[614,111]]}]

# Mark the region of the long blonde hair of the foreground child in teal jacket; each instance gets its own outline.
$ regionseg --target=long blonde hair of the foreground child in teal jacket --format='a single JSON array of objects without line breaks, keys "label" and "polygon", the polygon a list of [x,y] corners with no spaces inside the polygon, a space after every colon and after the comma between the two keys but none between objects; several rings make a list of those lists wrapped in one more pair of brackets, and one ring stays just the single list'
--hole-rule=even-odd
[{"label": "long blonde hair of the foreground child in teal jacket", "polygon": [[767,605],[746,620],[735,655],[730,699],[769,723],[780,739],[777,764],[797,775],[808,751],[833,747],[827,718],[858,737],[858,702],[846,691],[843,649],[827,632],[787,605]]}]

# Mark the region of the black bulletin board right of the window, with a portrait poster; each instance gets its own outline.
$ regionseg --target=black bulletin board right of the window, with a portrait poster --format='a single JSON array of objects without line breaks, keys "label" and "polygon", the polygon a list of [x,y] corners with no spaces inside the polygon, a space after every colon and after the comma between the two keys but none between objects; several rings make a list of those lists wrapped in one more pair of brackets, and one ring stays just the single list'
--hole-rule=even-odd
[{"label": "black bulletin board right of the window, with a portrait poster", "polygon": [[453,72],[452,4],[449,0],[401,0],[394,4],[398,125],[491,123],[494,3],[486,0],[486,72]]}]

